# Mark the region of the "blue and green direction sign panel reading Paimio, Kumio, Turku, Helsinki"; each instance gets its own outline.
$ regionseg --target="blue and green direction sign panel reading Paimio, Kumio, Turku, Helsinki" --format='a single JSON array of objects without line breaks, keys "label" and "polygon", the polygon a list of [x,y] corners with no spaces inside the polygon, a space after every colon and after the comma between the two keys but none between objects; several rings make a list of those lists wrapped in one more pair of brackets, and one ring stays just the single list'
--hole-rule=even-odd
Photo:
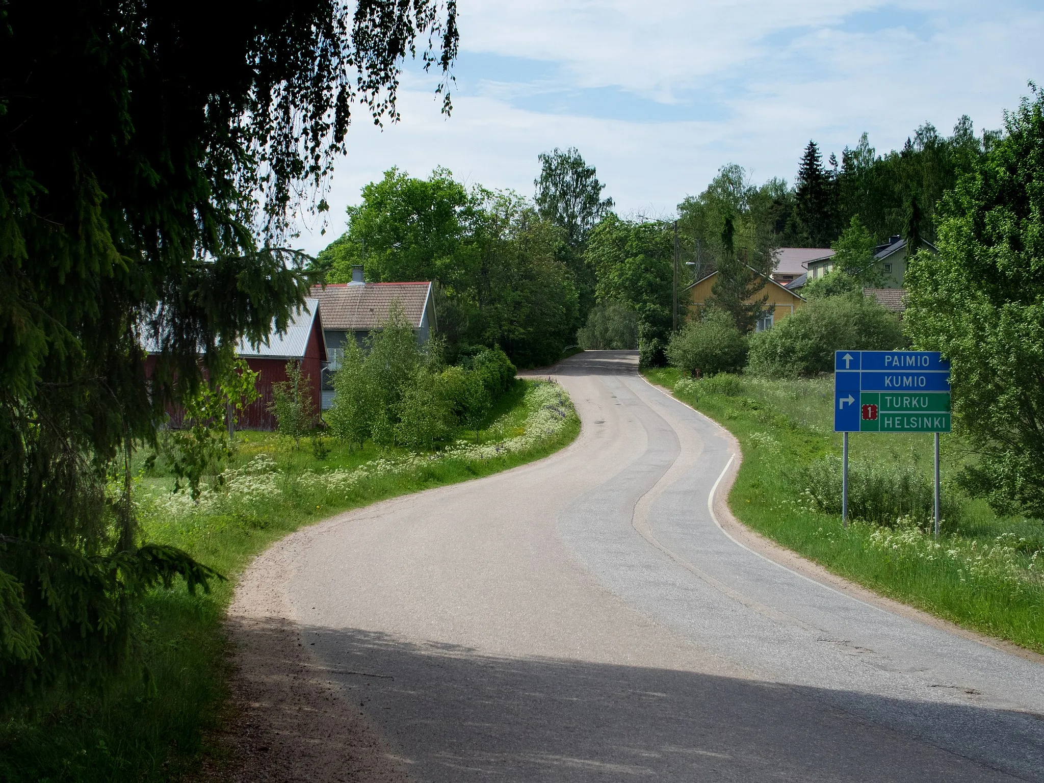
[{"label": "blue and green direction sign panel reading Paimio, Kumio, Turku, Helsinki", "polygon": [[935,351],[837,351],[835,432],[949,432],[950,362]]}]

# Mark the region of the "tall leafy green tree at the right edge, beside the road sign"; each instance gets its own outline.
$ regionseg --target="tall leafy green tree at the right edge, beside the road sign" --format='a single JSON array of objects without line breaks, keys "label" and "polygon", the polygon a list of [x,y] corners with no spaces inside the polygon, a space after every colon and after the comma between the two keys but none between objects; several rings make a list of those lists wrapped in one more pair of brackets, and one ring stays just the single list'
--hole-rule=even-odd
[{"label": "tall leafy green tree at the right edge, beside the road sign", "polygon": [[1044,94],[1030,87],[943,197],[939,255],[910,259],[906,325],[952,362],[955,420],[980,450],[966,485],[1044,517]]}]

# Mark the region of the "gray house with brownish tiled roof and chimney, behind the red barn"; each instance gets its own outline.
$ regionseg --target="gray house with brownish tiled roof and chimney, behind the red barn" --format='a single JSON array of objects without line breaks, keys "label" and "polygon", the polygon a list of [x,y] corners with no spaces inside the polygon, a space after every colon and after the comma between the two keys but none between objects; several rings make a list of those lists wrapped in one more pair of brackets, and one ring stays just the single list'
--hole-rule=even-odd
[{"label": "gray house with brownish tiled roof and chimney, behind the red barn", "polygon": [[417,336],[424,345],[436,330],[435,306],[430,281],[422,283],[366,283],[362,266],[352,267],[351,283],[329,283],[312,286],[312,296],[323,310],[323,335],[326,337],[329,362],[323,369],[323,409],[333,401],[330,377],[340,366],[345,345],[354,339],[360,345],[373,331],[387,323],[392,303],[402,305]]}]

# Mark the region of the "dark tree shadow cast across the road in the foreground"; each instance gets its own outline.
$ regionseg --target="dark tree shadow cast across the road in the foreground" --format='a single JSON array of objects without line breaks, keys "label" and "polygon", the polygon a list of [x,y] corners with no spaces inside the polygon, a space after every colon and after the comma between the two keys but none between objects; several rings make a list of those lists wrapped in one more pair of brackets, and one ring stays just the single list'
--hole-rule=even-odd
[{"label": "dark tree shadow cast across the road in the foreground", "polygon": [[[299,655],[286,640],[300,640],[315,654],[311,679],[339,692],[316,708],[364,715],[389,743],[382,753],[418,780],[1044,780],[1044,720],[1025,713],[691,671],[498,658],[275,619],[252,623],[238,638],[267,656],[264,677],[284,679]],[[300,708],[258,710],[282,721],[270,733],[277,741],[303,741]],[[307,741],[351,741],[328,734]]]}]

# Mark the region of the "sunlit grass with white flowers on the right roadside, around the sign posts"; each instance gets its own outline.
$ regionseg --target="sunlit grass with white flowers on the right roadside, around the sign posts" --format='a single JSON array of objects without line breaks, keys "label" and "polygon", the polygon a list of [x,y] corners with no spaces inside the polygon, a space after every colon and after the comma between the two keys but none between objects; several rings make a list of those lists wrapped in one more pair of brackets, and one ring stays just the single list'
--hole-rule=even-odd
[{"label": "sunlit grass with white flowers on the right roadside, around the sign posts", "polygon": [[[654,383],[674,388],[680,374],[651,370]],[[935,544],[924,519],[888,524],[856,521],[816,507],[809,476],[840,453],[832,424],[832,379],[741,377],[707,386],[682,384],[679,399],[725,426],[743,462],[729,495],[736,517],[755,530],[834,573],[965,627],[1044,652],[1044,523],[998,517],[952,483],[972,450],[943,435],[941,473],[950,518]],[[731,386],[731,387],[730,387]],[[871,474],[912,466],[930,476],[931,434],[853,433],[850,458]],[[920,523],[920,524],[919,524]]]}]

